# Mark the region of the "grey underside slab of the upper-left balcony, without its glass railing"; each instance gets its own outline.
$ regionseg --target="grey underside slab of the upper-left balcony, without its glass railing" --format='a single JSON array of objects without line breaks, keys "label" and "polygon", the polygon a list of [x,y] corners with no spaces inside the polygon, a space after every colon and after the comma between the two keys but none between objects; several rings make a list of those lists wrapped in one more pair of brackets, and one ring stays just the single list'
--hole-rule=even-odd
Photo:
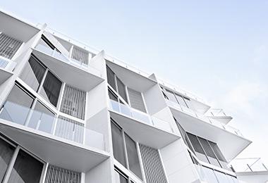
[{"label": "grey underside slab of the upper-left balcony, without its glass railing", "polygon": [[74,65],[60,61],[57,58],[47,55],[42,51],[34,49],[32,51],[37,58],[42,61],[47,67],[59,77],[60,80],[70,84],[73,87],[82,89],[85,92],[89,92],[91,89],[96,87],[98,84],[104,81],[102,77],[95,74],[95,70],[83,70]]}]

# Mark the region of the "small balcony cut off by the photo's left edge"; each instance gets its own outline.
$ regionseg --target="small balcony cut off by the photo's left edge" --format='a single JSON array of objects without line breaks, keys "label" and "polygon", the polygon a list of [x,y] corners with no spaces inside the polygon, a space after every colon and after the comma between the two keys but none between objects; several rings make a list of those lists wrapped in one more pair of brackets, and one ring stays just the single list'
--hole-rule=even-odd
[{"label": "small balcony cut off by the photo's left edge", "polygon": [[13,75],[12,72],[16,64],[16,62],[0,56],[0,84],[5,82],[9,77],[11,77],[11,75]]}]

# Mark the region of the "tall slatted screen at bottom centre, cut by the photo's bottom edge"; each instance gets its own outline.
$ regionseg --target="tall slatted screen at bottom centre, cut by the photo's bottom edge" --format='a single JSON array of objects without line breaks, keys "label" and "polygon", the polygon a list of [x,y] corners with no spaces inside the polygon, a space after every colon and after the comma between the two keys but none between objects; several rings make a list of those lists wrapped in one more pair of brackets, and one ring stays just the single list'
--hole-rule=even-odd
[{"label": "tall slatted screen at bottom centre, cut by the photo's bottom edge", "polygon": [[147,183],[167,183],[157,149],[140,144],[140,154]]}]

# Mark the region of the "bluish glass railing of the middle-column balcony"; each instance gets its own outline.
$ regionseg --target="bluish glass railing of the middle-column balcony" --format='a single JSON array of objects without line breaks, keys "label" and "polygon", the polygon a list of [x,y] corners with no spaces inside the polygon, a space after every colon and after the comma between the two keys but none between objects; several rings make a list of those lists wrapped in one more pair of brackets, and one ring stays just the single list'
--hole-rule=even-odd
[{"label": "bluish glass railing of the middle-column balcony", "polygon": [[159,129],[166,130],[168,132],[173,132],[173,129],[169,122],[166,122],[154,116],[150,117],[150,115],[147,115],[147,113],[142,113],[141,111],[124,105],[123,103],[118,103],[118,101],[110,99],[110,108],[113,111],[122,113],[123,115],[127,115],[128,117],[144,122],[147,125],[152,125]]}]

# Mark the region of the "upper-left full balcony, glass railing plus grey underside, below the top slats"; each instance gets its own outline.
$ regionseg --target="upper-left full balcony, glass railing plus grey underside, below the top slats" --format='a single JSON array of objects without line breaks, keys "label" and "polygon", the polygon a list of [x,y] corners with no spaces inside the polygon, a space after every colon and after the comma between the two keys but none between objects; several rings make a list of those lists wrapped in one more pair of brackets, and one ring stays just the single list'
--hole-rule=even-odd
[{"label": "upper-left full balcony, glass railing plus grey underside, below the top slats", "polygon": [[70,59],[62,53],[42,44],[38,44],[32,53],[61,78],[63,82],[71,84],[78,89],[88,92],[104,81],[102,73],[97,68]]}]

